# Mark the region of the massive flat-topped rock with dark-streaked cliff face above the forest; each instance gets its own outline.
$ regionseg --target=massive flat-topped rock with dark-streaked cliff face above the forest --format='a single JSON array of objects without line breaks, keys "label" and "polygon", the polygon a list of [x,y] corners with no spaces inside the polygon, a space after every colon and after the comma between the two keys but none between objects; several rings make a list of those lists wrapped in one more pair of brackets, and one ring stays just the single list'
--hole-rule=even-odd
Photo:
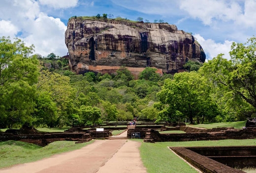
[{"label": "massive flat-topped rock with dark-streaked cliff face above the forest", "polygon": [[71,18],[65,32],[69,64],[77,74],[114,73],[126,66],[135,76],[146,67],[182,71],[188,60],[204,62],[194,37],[175,25],[90,21]]}]

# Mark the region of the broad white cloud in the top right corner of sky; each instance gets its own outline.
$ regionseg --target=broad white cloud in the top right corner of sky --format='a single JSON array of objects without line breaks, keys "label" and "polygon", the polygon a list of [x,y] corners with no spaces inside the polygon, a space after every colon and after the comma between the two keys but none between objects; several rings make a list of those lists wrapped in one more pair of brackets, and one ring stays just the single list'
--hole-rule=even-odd
[{"label": "broad white cloud in the top right corner of sky", "polygon": [[180,9],[204,25],[221,27],[220,23],[229,22],[240,28],[256,29],[256,0],[182,0]]}]

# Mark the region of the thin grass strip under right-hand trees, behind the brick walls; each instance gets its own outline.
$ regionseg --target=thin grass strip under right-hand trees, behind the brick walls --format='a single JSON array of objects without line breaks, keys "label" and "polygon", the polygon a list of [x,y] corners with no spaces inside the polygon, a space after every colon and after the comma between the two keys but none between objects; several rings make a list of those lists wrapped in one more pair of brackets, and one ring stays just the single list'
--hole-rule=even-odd
[{"label": "thin grass strip under right-hand trees, behind the brick walls", "polygon": [[245,126],[246,121],[242,122],[225,122],[225,123],[211,123],[211,124],[196,124],[196,125],[191,125],[187,124],[188,126],[192,127],[202,127],[202,128],[217,128],[217,127],[234,127],[237,129],[242,129],[243,126]]}]

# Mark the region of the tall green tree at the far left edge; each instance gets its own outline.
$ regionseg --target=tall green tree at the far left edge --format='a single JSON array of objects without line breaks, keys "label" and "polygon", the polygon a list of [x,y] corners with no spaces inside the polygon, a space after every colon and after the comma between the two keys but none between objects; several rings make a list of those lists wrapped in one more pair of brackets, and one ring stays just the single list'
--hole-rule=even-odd
[{"label": "tall green tree at the far left edge", "polygon": [[13,125],[30,124],[32,117],[35,84],[39,75],[37,56],[30,56],[33,45],[26,47],[16,39],[0,38],[0,120]]}]

